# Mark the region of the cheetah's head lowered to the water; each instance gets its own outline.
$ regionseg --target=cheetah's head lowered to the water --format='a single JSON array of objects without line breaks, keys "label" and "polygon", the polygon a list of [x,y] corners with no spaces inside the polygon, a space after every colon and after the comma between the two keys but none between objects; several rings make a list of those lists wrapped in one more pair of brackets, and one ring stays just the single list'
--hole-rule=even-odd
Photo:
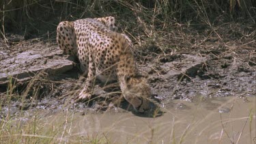
[{"label": "cheetah's head lowered to the water", "polygon": [[154,103],[150,101],[152,96],[150,85],[147,85],[144,76],[130,77],[125,75],[122,93],[124,98],[139,113],[144,113],[154,108]]}]

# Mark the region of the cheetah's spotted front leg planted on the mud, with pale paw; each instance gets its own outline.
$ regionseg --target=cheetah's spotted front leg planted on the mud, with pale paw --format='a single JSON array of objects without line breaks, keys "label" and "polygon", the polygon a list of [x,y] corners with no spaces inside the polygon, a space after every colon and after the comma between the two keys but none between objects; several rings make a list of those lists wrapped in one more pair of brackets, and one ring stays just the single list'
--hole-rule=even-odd
[{"label": "cheetah's spotted front leg planted on the mud, with pale paw", "polygon": [[88,100],[91,98],[91,93],[93,92],[94,80],[96,78],[96,67],[92,58],[92,55],[89,55],[89,68],[87,80],[85,83],[85,87],[79,93],[79,98],[77,100]]}]

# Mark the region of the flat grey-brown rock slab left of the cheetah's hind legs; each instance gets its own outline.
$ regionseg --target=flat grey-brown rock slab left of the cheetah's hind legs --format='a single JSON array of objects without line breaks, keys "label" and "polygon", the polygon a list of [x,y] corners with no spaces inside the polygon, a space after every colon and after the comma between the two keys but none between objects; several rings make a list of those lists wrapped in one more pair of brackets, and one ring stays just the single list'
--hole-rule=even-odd
[{"label": "flat grey-brown rock slab left of the cheetah's hind legs", "polygon": [[57,47],[35,44],[33,48],[27,49],[4,53],[0,61],[0,85],[6,85],[9,77],[16,83],[25,83],[41,71],[60,74],[74,67],[73,62],[67,59],[68,56],[62,55],[63,52]]}]

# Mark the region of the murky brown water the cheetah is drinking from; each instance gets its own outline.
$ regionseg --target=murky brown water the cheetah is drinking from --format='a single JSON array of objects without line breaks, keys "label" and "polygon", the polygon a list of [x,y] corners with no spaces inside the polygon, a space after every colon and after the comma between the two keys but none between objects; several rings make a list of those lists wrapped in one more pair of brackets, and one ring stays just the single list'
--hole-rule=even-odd
[{"label": "murky brown water the cheetah is drinking from", "polygon": [[[111,143],[256,143],[255,97],[172,100],[156,118],[132,113],[57,113],[45,115],[47,126],[65,128],[62,139],[104,139]],[[63,140],[64,141],[64,140]],[[80,141],[81,142],[81,141]]]}]

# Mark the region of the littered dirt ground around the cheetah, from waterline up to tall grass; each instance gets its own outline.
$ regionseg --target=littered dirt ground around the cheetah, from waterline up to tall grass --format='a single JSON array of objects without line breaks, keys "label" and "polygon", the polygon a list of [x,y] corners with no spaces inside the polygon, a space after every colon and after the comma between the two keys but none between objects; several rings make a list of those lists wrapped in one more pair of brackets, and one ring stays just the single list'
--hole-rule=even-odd
[{"label": "littered dirt ground around the cheetah, from waterline up to tall grass", "polygon": [[[255,26],[229,23],[214,29],[185,28],[185,36],[173,28],[156,42],[146,38],[143,46],[134,42],[137,66],[149,74],[148,83],[162,108],[180,106],[173,99],[194,102],[237,96],[246,101],[256,96]],[[85,80],[75,58],[63,55],[54,40],[23,40],[12,33],[6,38],[7,44],[0,41],[0,118],[24,113],[20,110],[73,109],[84,115],[129,107],[127,102],[121,103],[121,109],[113,106],[118,89],[115,93],[116,89],[105,89],[100,82],[92,102],[74,104]]]}]

